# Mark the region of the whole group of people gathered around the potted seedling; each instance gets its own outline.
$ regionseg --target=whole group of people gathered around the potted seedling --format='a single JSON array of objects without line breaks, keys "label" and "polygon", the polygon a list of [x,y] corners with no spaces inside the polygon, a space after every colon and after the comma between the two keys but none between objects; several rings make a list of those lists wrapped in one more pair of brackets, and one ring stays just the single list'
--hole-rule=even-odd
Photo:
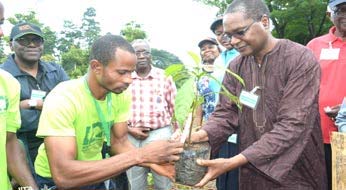
[{"label": "whole group of people gathered around the potted seedling", "polygon": [[[0,25],[4,10],[0,2]],[[215,36],[196,44],[207,75],[196,81],[204,102],[191,137],[208,141],[212,156],[197,161],[208,170],[195,187],[216,179],[218,190],[332,189],[330,136],[346,132],[346,0],[330,0],[327,14],[329,33],[306,46],[272,36],[263,0],[233,0],[211,23]],[[41,60],[40,27],[16,24],[9,45],[0,65],[0,189],[139,190],[149,172],[154,189],[172,188],[184,148],[177,89],[153,65],[148,41],[99,37],[87,73],[71,80]]]}]

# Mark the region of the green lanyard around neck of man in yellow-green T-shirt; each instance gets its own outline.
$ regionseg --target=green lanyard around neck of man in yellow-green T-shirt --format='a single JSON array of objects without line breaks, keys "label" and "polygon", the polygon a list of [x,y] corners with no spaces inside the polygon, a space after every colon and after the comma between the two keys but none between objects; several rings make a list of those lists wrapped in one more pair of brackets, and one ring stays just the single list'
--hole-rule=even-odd
[{"label": "green lanyard around neck of man in yellow-green T-shirt", "polygon": [[112,116],[112,96],[111,96],[111,93],[107,93],[107,96],[106,96],[106,100],[107,100],[107,118],[105,118],[105,116],[102,113],[100,104],[96,101],[96,99],[91,94],[91,91],[90,91],[90,88],[88,86],[86,77],[85,77],[85,80],[84,80],[84,84],[85,84],[85,88],[88,90],[91,98],[94,101],[94,105],[96,107],[97,115],[99,116],[99,119],[101,120],[102,129],[103,129],[103,132],[106,135],[107,146],[110,146],[110,144],[111,144],[110,143],[111,142],[111,136],[110,136],[110,130],[111,129],[110,129],[110,126],[112,125],[112,122],[107,122],[107,119],[109,119],[109,115]]}]

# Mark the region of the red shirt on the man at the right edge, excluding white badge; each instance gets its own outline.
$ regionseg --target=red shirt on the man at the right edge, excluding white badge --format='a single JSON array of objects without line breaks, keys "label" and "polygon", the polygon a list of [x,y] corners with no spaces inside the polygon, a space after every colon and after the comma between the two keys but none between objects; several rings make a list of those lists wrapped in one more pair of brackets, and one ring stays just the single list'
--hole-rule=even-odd
[{"label": "red shirt on the man at the right edge, excluding white badge", "polygon": [[[324,108],[341,104],[343,98],[346,96],[346,41],[342,41],[342,38],[335,36],[335,30],[336,28],[333,26],[328,34],[314,38],[307,44],[307,47],[312,49],[321,65],[319,111],[321,115],[323,141],[326,144],[330,143],[330,133],[337,131],[337,127],[325,114]],[[330,44],[333,49],[340,48],[339,59],[321,59],[322,49],[330,48]]]}]

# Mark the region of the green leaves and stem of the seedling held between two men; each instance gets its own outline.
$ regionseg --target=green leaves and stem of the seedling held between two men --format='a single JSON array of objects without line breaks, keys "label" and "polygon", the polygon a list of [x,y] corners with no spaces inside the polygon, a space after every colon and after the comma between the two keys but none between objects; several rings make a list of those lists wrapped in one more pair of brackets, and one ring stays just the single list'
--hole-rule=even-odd
[{"label": "green leaves and stem of the seedling held between two men", "polygon": [[[232,102],[234,102],[240,109],[241,105],[239,102],[239,99],[237,96],[231,94],[222,84],[218,81],[215,77],[210,75],[208,72],[206,72],[203,69],[203,64],[200,61],[200,58],[197,54],[193,52],[189,52],[190,57],[194,60],[193,65],[182,65],[182,64],[173,64],[169,66],[165,73],[166,75],[172,76],[173,80],[175,82],[178,82],[179,80],[184,79],[185,82],[181,86],[181,88],[178,89],[177,96],[175,99],[175,111],[174,111],[174,119],[179,123],[180,126],[183,126],[184,122],[186,122],[188,115],[192,113],[192,119],[194,117],[195,110],[199,105],[201,105],[204,102],[203,96],[201,96],[197,92],[196,83],[199,81],[202,77],[208,77],[210,80],[214,80],[221,86],[221,91],[223,95],[227,96]],[[237,74],[233,73],[232,71],[229,71],[225,68],[214,68],[214,69],[223,69],[225,72],[230,73],[232,76],[234,76],[243,86],[245,86],[243,79],[238,76]],[[186,77],[188,79],[186,80]],[[188,138],[188,144],[190,144],[190,137],[191,132],[193,129],[192,122],[190,125],[190,131],[189,131],[189,138]]]}]

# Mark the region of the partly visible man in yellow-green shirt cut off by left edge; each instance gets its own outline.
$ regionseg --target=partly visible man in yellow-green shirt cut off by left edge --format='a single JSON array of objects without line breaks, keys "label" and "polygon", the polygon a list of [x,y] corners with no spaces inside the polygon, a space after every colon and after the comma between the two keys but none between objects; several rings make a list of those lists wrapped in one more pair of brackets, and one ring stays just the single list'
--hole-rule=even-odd
[{"label": "partly visible man in yellow-green shirt cut off by left edge", "polygon": [[[0,2],[0,37],[4,22],[4,6]],[[20,85],[11,74],[0,69],[0,189],[12,189],[9,173],[23,187],[37,189],[26,163],[25,153],[18,143],[16,131],[20,127]]]}]

